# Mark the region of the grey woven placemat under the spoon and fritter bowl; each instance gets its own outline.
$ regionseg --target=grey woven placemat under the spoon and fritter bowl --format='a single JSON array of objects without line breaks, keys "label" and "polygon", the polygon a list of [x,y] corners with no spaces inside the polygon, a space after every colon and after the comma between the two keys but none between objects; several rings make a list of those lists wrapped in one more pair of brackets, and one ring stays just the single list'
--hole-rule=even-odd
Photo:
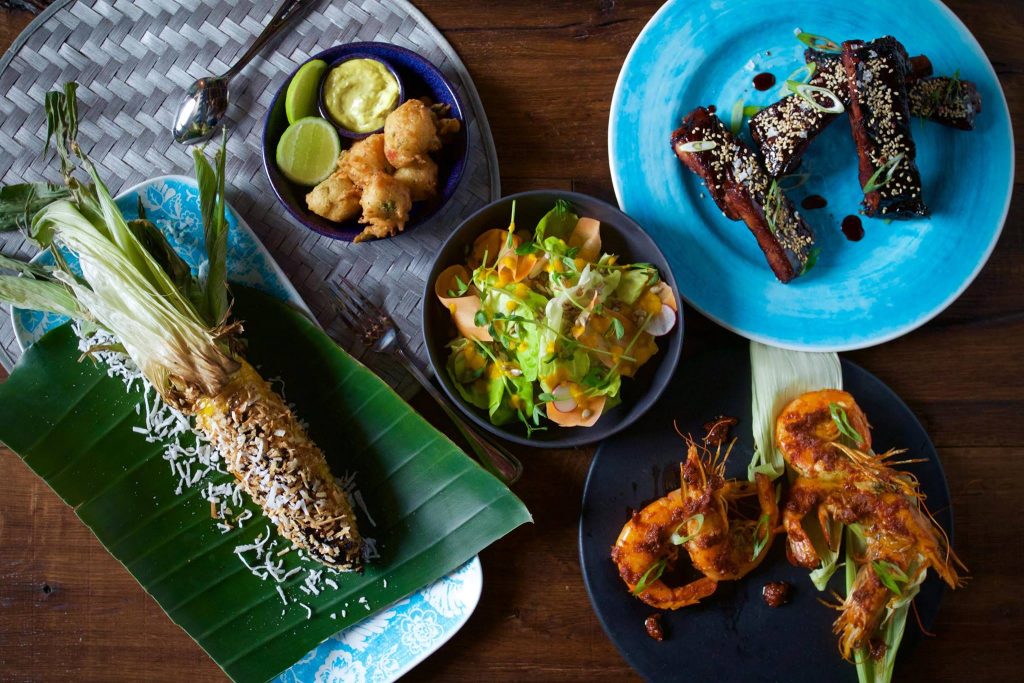
[{"label": "grey woven placemat under the spoon and fritter bowl", "polygon": [[[187,147],[170,126],[184,89],[220,74],[269,20],[280,0],[62,0],[26,29],[0,59],[0,184],[49,179],[40,163],[43,96],[67,80],[81,87],[79,139],[113,191],[157,175],[190,175]],[[428,222],[397,238],[351,245],[294,222],[263,170],[263,117],[299,63],[333,45],[381,41],[408,47],[436,65],[465,103],[470,150],[455,197]],[[440,33],[404,0],[322,0],[231,84],[228,201],[288,273],[321,324],[356,357],[401,391],[411,380],[387,359],[367,355],[343,329],[325,287],[347,276],[382,302],[413,351],[423,357],[421,293],[433,256],[462,217],[500,194],[498,161],[479,95]],[[0,233],[0,251],[31,256],[19,233]],[[19,355],[6,309],[0,314],[0,364]],[[6,357],[5,357],[6,356]]]}]

